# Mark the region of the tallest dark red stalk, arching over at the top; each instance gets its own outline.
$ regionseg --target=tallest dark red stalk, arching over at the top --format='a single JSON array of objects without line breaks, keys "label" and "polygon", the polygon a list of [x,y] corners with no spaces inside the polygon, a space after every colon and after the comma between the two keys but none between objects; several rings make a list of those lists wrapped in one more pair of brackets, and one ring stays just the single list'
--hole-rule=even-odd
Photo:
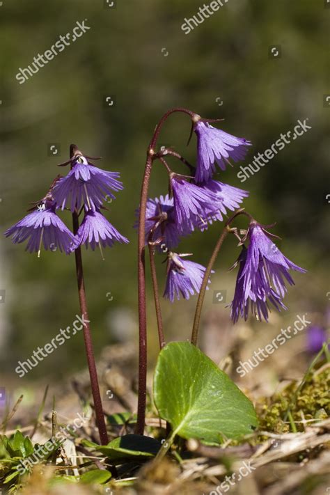
[{"label": "tallest dark red stalk, arching over at the top", "polygon": [[150,173],[152,169],[155,146],[159,133],[166,119],[171,113],[187,113],[191,119],[195,113],[184,108],[168,110],[155,127],[147,151],[146,167],[144,170],[139,213],[139,237],[138,237],[138,298],[139,298],[139,396],[137,407],[136,433],[143,435],[146,420],[146,395],[147,395],[147,317],[146,317],[146,262],[145,262],[145,231],[146,231],[146,206],[148,200],[148,189]]}]

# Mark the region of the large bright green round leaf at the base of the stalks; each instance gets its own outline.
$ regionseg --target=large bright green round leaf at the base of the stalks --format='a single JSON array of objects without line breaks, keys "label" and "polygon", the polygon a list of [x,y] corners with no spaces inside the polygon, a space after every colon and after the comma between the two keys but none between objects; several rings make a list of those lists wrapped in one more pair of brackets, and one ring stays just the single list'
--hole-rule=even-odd
[{"label": "large bright green round leaf at the base of the stalks", "polygon": [[159,415],[185,439],[221,443],[258,425],[251,401],[195,345],[172,342],[160,352],[154,376]]}]

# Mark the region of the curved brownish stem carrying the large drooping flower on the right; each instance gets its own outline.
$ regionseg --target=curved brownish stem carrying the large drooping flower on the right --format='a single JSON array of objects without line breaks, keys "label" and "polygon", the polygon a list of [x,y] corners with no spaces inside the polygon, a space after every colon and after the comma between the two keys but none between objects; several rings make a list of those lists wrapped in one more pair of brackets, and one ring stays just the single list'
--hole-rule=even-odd
[{"label": "curved brownish stem carrying the large drooping flower on the right", "polygon": [[217,260],[217,256],[219,254],[219,251],[221,249],[221,246],[223,244],[223,241],[226,239],[229,230],[228,227],[230,226],[230,223],[239,215],[239,214],[244,214],[248,217],[250,217],[249,213],[244,212],[243,208],[240,208],[237,210],[231,217],[228,219],[225,223],[225,226],[223,227],[223,230],[221,232],[221,235],[217,241],[217,244],[214,247],[213,253],[211,255],[210,261],[207,264],[207,267],[205,269],[205,274],[203,278],[203,282],[201,285],[201,290],[199,291],[198,294],[198,299],[197,299],[197,304],[196,304],[196,311],[195,311],[195,317],[194,317],[194,325],[193,329],[191,332],[191,344],[197,345],[197,340],[198,340],[198,328],[199,328],[199,323],[201,321],[201,313],[202,313],[202,308],[203,308],[203,302],[205,298],[205,291],[207,288],[207,282],[210,278],[210,274],[212,272],[212,268],[214,265],[214,262]]}]

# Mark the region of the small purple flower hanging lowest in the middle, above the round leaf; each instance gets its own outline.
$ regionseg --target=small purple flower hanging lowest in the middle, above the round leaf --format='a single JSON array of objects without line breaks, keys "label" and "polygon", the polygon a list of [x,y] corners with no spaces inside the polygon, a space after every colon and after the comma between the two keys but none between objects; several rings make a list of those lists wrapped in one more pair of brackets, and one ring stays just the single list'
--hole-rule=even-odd
[{"label": "small purple flower hanging lowest in the middle, above the round leaf", "polygon": [[193,261],[182,260],[181,256],[187,255],[168,253],[166,287],[163,295],[171,302],[175,297],[180,299],[180,292],[184,299],[189,299],[189,294],[194,295],[195,292],[198,294],[205,273],[205,267]]}]

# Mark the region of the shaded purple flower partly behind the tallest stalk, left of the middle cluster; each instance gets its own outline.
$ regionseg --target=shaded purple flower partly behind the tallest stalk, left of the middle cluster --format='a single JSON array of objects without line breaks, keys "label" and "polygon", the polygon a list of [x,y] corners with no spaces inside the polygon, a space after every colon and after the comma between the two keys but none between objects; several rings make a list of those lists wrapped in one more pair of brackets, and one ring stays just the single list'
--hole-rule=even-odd
[{"label": "shaded purple flower partly behind the tallest stalk, left of the middle cluster", "polygon": [[[139,217],[139,209],[136,210],[136,216]],[[161,221],[162,219],[162,221]],[[157,222],[159,226],[155,228],[152,235],[152,240],[156,241],[162,238],[166,248],[173,248],[179,244],[179,231],[175,223],[173,198],[170,198],[168,194],[166,196],[159,196],[159,198],[151,199],[147,201],[146,208],[146,244],[148,244],[148,237],[151,229]],[[135,228],[139,226],[139,222],[134,225]],[[163,244],[161,244],[163,246]],[[159,246],[159,249],[161,249]]]}]

